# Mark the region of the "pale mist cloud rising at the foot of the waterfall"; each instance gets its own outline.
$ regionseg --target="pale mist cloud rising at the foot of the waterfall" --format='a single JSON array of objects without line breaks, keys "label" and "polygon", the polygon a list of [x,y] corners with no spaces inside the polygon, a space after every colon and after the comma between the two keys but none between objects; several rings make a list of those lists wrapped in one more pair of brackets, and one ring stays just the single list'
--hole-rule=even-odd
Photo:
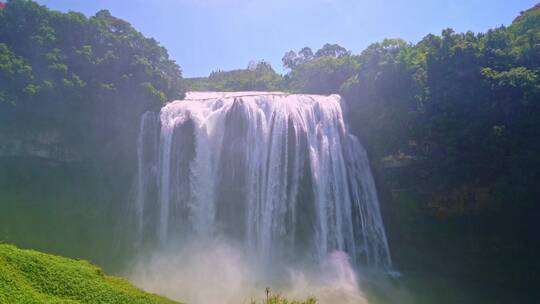
[{"label": "pale mist cloud rising at the foot of the waterfall", "polygon": [[265,265],[223,240],[196,240],[143,259],[131,278],[150,292],[183,303],[261,303],[266,287],[290,299],[367,303],[343,252],[330,254],[317,266]]}]

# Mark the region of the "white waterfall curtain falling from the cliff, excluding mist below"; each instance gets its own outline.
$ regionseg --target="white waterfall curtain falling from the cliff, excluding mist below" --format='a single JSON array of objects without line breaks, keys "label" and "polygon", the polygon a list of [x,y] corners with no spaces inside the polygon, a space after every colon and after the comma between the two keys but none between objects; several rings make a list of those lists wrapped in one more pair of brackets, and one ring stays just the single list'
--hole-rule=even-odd
[{"label": "white waterfall curtain falling from the cliff, excluding mist below", "polygon": [[[338,95],[191,92],[165,105],[159,119],[145,113],[139,227],[154,227],[161,243],[227,237],[264,260],[322,261],[338,250],[389,268],[367,154],[348,133],[341,102]],[[155,212],[145,208],[150,201]]]}]

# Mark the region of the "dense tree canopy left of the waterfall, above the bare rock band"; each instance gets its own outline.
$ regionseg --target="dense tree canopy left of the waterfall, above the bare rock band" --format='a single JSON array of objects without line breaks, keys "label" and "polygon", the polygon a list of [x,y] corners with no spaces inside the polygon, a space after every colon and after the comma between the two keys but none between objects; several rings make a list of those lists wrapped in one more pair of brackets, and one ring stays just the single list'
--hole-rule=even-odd
[{"label": "dense tree canopy left of the waterfall, above the bare rock band", "polygon": [[58,128],[64,138],[86,141],[71,143],[89,154],[184,92],[166,49],[128,22],[106,10],[88,18],[26,0],[0,10],[0,82],[0,125]]}]

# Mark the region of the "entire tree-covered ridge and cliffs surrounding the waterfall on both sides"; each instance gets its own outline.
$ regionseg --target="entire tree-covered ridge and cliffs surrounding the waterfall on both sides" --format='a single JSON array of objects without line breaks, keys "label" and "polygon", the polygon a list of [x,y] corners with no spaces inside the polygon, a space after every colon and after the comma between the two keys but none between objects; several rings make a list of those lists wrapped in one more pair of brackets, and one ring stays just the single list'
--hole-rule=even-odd
[{"label": "entire tree-covered ridge and cliffs surrounding the waterfall on both sides", "polygon": [[[305,47],[287,52],[283,65],[283,75],[255,62],[183,79],[165,48],[108,11],[88,18],[8,1],[0,6],[0,207],[54,201],[83,225],[74,207],[81,203],[92,221],[106,214],[112,227],[111,210],[123,207],[111,206],[130,195],[144,111],[186,90],[336,93],[369,152],[395,267],[534,296],[540,282],[538,5],[485,33],[445,29],[418,43],[385,39],[360,53],[336,44]],[[19,194],[29,184],[47,194]],[[66,187],[68,194],[58,195]],[[113,199],[104,199],[111,192]],[[1,220],[14,223],[9,212]],[[6,241],[56,246],[22,237],[21,221],[0,225]],[[104,235],[109,226],[101,226],[95,234],[85,231],[89,239]],[[53,251],[99,250],[58,245]]]}]

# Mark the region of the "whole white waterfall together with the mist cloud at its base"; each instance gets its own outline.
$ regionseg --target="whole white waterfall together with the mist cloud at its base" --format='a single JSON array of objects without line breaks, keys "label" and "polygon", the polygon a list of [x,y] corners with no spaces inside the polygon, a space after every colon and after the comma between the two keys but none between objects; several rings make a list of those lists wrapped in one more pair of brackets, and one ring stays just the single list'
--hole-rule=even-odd
[{"label": "whole white waterfall together with the mist cloud at its base", "polygon": [[266,287],[364,303],[354,269],[391,260],[343,108],[337,95],[197,92],[145,113],[132,279],[195,304],[246,303]]}]

